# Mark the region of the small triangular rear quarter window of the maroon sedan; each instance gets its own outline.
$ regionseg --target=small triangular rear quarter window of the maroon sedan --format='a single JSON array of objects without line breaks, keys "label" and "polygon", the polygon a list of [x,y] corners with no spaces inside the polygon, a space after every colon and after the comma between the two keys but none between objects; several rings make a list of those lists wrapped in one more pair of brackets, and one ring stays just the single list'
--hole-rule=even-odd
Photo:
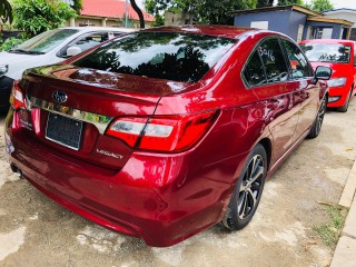
[{"label": "small triangular rear quarter window of the maroon sedan", "polygon": [[250,57],[248,63],[245,67],[244,76],[249,86],[266,83],[266,76],[263,63],[258,56],[258,51],[255,51]]}]

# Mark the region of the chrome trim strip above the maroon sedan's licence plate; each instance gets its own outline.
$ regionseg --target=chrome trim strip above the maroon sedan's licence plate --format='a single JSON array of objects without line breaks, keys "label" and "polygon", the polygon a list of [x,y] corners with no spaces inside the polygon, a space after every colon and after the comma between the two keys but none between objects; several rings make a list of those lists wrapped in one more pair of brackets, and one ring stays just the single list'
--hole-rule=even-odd
[{"label": "chrome trim strip above the maroon sedan's licence plate", "polygon": [[40,108],[53,113],[58,113],[71,119],[80,120],[83,122],[88,122],[95,125],[98,131],[103,135],[105,130],[108,128],[113,117],[98,115],[92,112],[82,111],[79,109],[61,106],[59,103],[48,102],[46,100],[28,97],[26,96],[27,109],[32,110],[33,108]]}]

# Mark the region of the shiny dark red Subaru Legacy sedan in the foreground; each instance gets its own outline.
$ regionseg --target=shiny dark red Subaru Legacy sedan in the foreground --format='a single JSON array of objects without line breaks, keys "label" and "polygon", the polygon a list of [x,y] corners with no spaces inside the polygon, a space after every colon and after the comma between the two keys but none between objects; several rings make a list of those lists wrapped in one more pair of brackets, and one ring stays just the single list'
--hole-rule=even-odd
[{"label": "shiny dark red Subaru Legacy sedan in the foreground", "polygon": [[329,76],[314,76],[276,32],[144,30],[26,71],[7,151],[13,171],[66,208],[170,246],[251,220],[266,178],[318,136]]}]

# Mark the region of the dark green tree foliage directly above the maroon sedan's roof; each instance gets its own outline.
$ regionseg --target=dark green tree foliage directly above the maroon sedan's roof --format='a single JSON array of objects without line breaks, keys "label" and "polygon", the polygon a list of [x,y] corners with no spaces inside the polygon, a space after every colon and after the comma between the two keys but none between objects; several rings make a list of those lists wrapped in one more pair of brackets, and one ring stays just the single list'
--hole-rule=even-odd
[{"label": "dark green tree foliage directly above the maroon sedan's roof", "polygon": [[155,16],[165,11],[192,16],[194,21],[207,24],[233,24],[228,12],[256,7],[257,0],[145,0],[146,10]]}]

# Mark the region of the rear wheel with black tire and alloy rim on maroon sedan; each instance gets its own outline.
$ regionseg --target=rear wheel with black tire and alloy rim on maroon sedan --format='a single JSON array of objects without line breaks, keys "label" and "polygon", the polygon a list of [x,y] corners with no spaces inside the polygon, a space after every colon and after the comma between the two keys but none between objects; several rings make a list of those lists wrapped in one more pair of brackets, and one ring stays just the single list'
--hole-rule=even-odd
[{"label": "rear wheel with black tire and alloy rim on maroon sedan", "polygon": [[239,230],[249,224],[263,195],[267,172],[267,155],[257,145],[248,155],[221,224]]}]

